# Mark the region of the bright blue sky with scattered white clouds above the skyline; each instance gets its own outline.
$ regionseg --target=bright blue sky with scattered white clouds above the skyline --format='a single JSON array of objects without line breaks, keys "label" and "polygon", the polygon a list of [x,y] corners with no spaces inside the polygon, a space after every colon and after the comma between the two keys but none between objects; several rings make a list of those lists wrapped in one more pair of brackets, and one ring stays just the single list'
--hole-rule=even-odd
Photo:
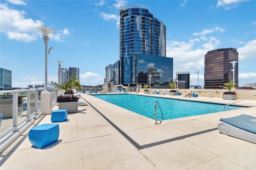
[{"label": "bright blue sky with scattered white clouds above the skyline", "polygon": [[[254,0],[1,0],[0,67],[12,71],[12,87],[42,85],[42,33],[51,28],[48,82],[61,67],[80,68],[82,85],[103,84],[105,67],[119,59],[120,6],[148,8],[166,26],[166,57],[176,71],[190,71],[191,85],[204,85],[204,55],[218,48],[238,51],[239,86],[256,83]],[[175,77],[175,76],[174,76]],[[235,82],[236,83],[236,82]]]}]

